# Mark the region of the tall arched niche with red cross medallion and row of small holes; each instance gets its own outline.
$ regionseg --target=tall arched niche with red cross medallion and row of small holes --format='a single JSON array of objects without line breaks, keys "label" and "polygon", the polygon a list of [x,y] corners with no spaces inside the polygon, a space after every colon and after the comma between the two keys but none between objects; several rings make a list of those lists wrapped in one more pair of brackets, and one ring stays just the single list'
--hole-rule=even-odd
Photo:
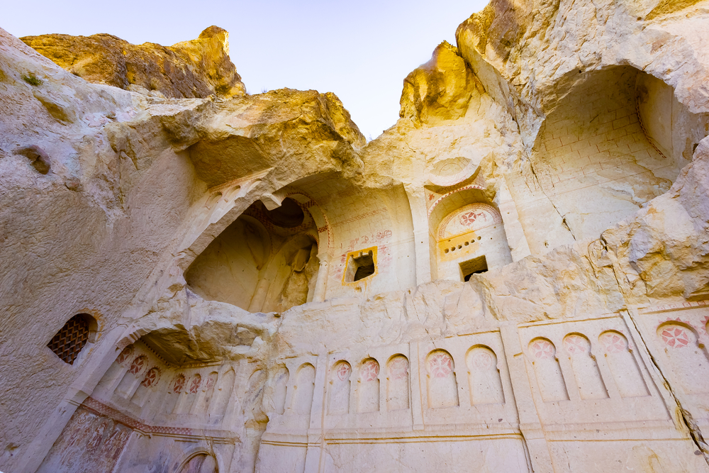
[{"label": "tall arched niche with red cross medallion and row of small holes", "polygon": [[440,199],[429,216],[436,279],[467,281],[472,274],[512,262],[498,209],[469,186]]}]

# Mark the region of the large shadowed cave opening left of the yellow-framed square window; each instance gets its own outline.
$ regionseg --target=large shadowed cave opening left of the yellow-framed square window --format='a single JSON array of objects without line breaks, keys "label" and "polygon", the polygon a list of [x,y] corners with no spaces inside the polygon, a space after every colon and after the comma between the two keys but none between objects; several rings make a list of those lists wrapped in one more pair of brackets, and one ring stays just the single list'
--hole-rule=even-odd
[{"label": "large shadowed cave opening left of the yellow-framed square window", "polygon": [[[294,196],[296,197],[296,196]],[[203,299],[252,312],[285,311],[313,299],[318,227],[303,199],[268,210],[256,201],[185,272]]]}]

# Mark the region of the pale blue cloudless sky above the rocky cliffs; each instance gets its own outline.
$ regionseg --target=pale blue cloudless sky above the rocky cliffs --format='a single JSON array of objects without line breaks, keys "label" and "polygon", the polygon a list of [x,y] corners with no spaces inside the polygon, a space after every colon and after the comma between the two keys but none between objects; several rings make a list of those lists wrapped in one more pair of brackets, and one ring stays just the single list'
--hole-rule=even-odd
[{"label": "pale blue cloudless sky above the rocky cliffs", "polygon": [[0,27],[16,36],[111,33],[172,45],[216,25],[250,93],[332,91],[367,138],[398,118],[404,77],[486,0],[5,2]]}]

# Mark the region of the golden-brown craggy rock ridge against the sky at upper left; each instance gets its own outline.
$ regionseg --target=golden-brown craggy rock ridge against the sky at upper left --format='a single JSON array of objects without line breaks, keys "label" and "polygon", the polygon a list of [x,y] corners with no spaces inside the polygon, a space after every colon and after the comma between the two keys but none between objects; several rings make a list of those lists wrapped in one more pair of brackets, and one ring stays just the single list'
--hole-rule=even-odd
[{"label": "golden-brown craggy rock ridge against the sky at upper left", "polygon": [[229,59],[229,33],[210,26],[199,38],[172,46],[132,45],[113,35],[41,35],[26,45],[72,74],[96,84],[169,98],[242,96],[246,88]]}]

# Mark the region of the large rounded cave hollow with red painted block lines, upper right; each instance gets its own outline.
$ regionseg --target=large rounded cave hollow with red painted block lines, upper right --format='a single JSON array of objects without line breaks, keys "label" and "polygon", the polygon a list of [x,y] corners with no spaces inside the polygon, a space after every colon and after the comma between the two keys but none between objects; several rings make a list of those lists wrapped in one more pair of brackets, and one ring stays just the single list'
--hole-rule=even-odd
[{"label": "large rounded cave hollow with red painted block lines, upper right", "polygon": [[707,116],[635,67],[576,70],[555,96],[530,155],[536,198],[518,204],[532,251],[598,238],[669,190],[707,135]]}]

